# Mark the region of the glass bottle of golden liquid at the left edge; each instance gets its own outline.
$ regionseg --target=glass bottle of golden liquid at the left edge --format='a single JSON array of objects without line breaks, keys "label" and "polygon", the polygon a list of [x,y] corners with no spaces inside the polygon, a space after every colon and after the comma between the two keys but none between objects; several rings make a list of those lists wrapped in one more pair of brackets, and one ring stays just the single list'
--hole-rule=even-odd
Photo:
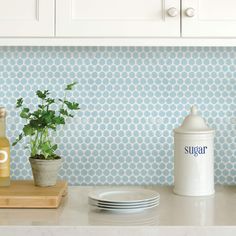
[{"label": "glass bottle of golden liquid at the left edge", "polygon": [[6,109],[0,107],[0,187],[10,185],[10,143],[6,137]]}]

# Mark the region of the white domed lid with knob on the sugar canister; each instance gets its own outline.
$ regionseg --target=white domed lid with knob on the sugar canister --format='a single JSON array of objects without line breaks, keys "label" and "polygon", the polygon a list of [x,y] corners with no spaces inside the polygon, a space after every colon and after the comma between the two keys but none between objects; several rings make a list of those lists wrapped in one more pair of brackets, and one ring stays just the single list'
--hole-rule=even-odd
[{"label": "white domed lid with knob on the sugar canister", "polygon": [[191,112],[183,121],[183,124],[174,129],[175,133],[214,133],[206,124],[205,120],[198,115],[196,106],[191,107]]}]

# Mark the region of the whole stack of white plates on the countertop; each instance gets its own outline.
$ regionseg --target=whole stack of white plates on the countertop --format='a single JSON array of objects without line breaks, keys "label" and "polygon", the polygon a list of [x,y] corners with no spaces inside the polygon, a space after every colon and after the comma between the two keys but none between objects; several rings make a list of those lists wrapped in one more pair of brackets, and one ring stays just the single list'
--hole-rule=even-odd
[{"label": "whole stack of white plates on the countertop", "polygon": [[159,203],[160,194],[148,189],[107,189],[89,194],[89,204],[106,211],[141,211],[156,207]]}]

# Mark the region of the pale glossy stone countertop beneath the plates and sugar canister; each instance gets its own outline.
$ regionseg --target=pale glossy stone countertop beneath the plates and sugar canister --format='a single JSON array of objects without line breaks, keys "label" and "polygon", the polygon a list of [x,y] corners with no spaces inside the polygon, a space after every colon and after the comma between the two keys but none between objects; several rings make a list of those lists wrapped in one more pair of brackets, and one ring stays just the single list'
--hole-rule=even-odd
[{"label": "pale glossy stone countertop beneath the plates and sugar canister", "polygon": [[160,205],[130,214],[91,209],[88,193],[102,188],[69,187],[58,209],[0,209],[0,235],[236,235],[236,186],[216,186],[216,194],[208,197],[143,187],[160,193]]}]

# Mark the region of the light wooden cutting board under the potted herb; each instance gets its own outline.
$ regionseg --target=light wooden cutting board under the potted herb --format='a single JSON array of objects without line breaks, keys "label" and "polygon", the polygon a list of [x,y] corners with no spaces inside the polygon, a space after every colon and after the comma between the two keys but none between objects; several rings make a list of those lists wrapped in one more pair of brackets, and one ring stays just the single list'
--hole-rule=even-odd
[{"label": "light wooden cutting board under the potted herb", "polygon": [[36,187],[33,181],[11,181],[0,187],[0,208],[57,208],[67,194],[67,182],[58,181],[53,187]]}]

